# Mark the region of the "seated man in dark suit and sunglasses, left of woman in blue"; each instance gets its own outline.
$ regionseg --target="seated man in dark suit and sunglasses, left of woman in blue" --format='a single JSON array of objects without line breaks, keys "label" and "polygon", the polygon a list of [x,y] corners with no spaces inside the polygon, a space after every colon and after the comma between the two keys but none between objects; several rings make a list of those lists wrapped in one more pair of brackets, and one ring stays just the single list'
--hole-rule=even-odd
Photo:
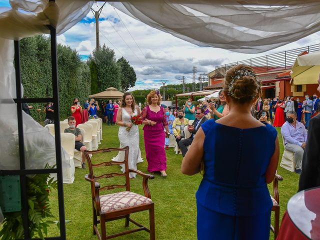
[{"label": "seated man in dark suit and sunglasses, left of woman in blue", "polygon": [[201,124],[207,120],[207,118],[204,116],[204,109],[202,107],[196,109],[195,117],[196,120],[193,121],[192,125],[188,125],[188,131],[192,132],[191,136],[189,138],[180,140],[178,143],[181,149],[182,156],[184,156],[188,150],[188,148],[186,147],[191,145],[196,131],[199,129]]}]

